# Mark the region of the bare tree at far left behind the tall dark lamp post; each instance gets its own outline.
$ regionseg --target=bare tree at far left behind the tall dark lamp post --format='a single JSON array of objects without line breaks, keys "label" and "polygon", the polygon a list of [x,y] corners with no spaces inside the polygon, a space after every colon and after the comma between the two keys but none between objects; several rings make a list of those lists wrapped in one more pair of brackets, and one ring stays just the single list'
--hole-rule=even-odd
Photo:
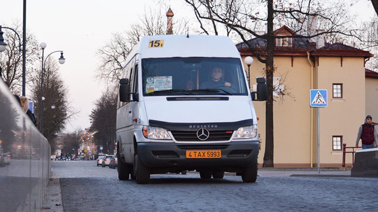
[{"label": "bare tree at far left behind the tall dark lamp post", "polygon": [[[0,24],[1,25],[1,24]],[[3,24],[7,26],[6,24]],[[7,26],[14,29],[22,40],[22,23],[15,22]],[[18,90],[22,85],[22,52],[20,52],[20,40],[17,34],[11,30],[2,30],[5,42],[8,44],[6,51],[0,54],[1,75],[8,81],[12,91]],[[21,47],[22,48],[22,47]],[[35,71],[34,61],[40,59],[37,40],[33,34],[26,37],[26,76]],[[27,80],[29,80],[27,78]]]}]

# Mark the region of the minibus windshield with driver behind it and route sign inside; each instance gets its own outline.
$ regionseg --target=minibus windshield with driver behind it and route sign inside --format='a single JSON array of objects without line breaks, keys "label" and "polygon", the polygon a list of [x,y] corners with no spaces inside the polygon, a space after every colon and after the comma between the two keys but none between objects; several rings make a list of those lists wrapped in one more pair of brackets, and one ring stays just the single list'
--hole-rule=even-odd
[{"label": "minibus windshield with driver behind it and route sign inside", "polygon": [[239,58],[142,59],[143,95],[248,95]]}]

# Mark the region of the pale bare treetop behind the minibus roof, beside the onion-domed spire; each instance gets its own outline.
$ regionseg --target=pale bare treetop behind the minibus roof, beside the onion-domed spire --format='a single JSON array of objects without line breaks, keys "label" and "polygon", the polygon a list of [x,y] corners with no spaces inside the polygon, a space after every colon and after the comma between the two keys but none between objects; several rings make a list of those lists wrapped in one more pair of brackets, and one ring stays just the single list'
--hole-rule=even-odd
[{"label": "pale bare treetop behind the minibus roof, beside the onion-domed spire", "polygon": [[[183,34],[185,32],[186,22],[184,20],[177,20],[173,25],[174,33]],[[97,51],[101,65],[96,78],[110,83],[118,82],[123,62],[139,40],[147,35],[163,35],[166,32],[167,17],[163,7],[145,9],[138,22],[124,32],[113,34],[112,39]]]}]

